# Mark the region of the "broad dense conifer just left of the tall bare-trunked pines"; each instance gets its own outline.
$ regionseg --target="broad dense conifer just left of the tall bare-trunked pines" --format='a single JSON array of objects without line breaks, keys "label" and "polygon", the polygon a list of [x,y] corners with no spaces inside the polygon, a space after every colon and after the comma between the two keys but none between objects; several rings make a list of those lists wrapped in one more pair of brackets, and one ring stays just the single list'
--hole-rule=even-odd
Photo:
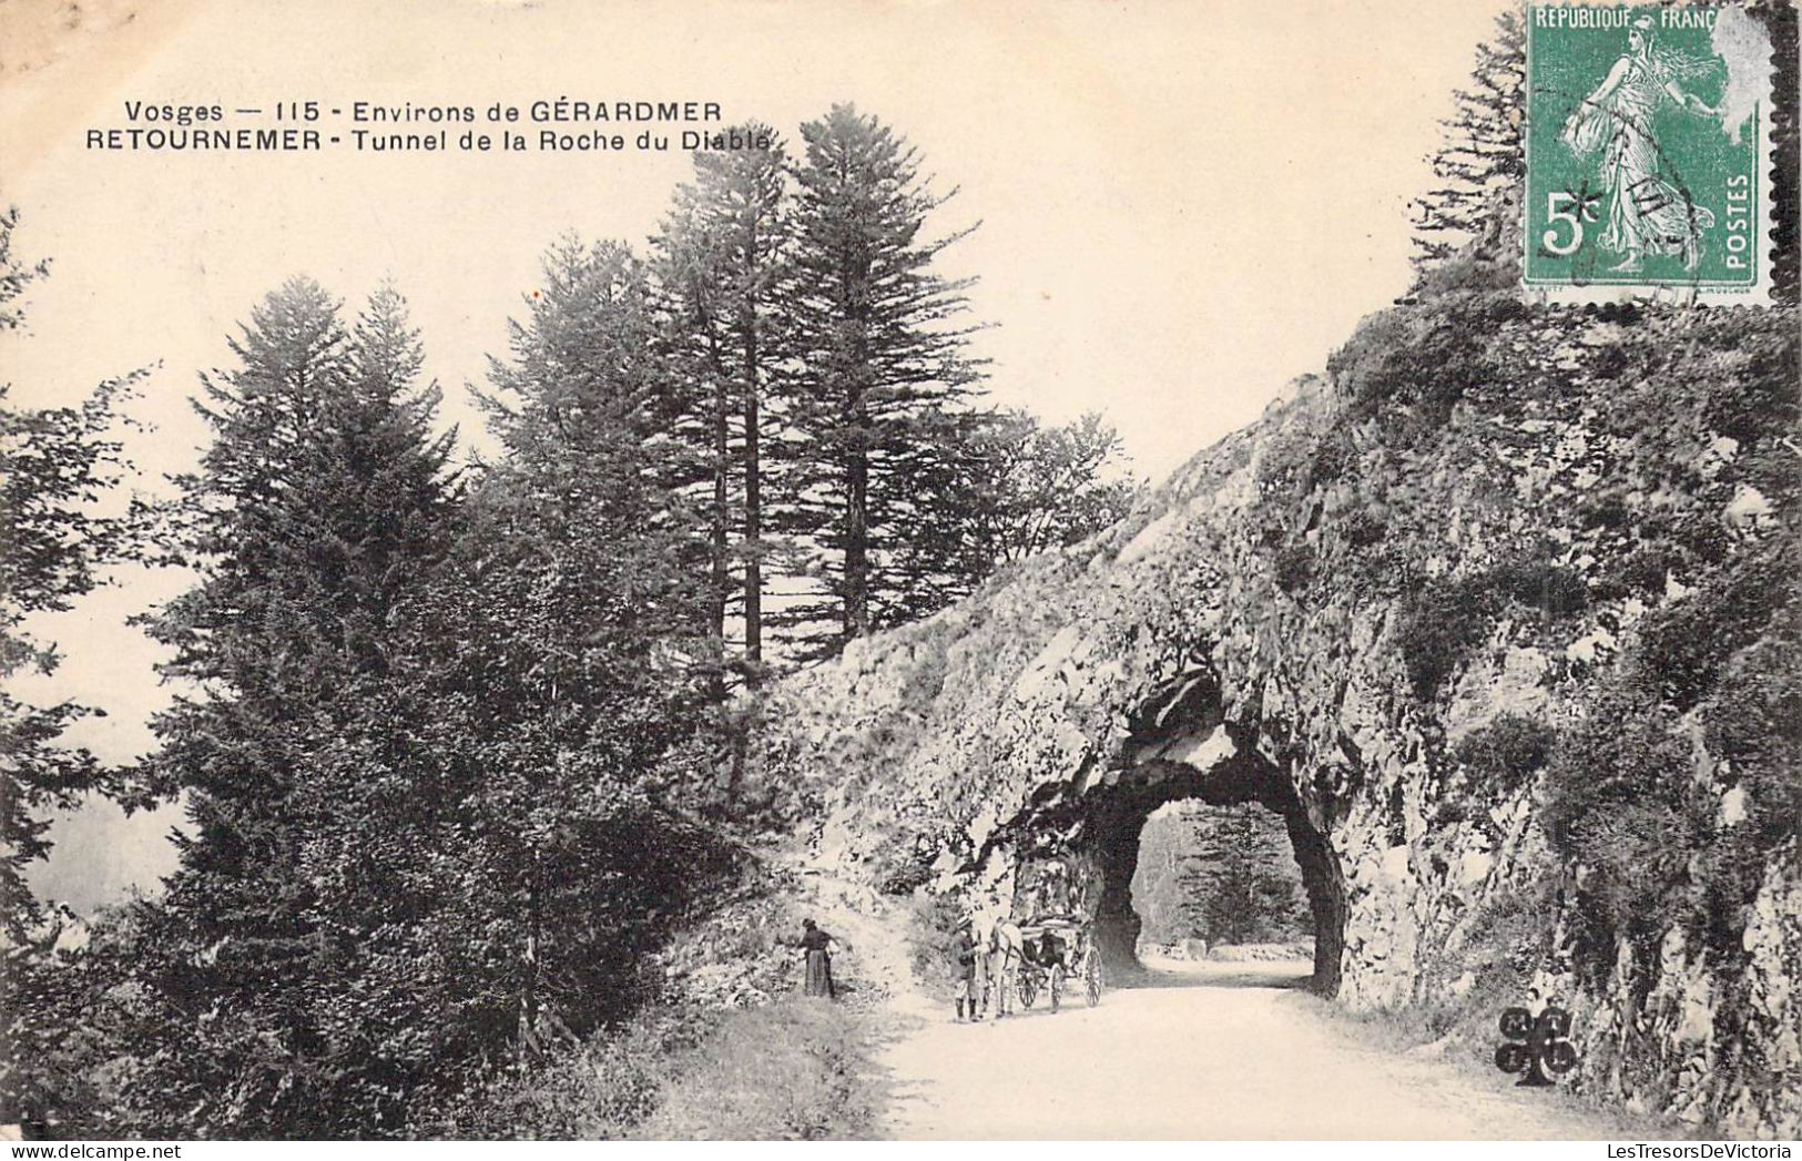
[{"label": "broad dense conifer just left of the tall bare-trunked pines", "polygon": [[[528,1060],[618,1015],[699,833],[661,761],[705,701],[708,573],[672,485],[645,270],[616,243],[548,254],[490,409],[505,456],[432,599],[420,745],[447,781],[434,869],[445,1035]],[[436,934],[432,934],[436,932]]]}]

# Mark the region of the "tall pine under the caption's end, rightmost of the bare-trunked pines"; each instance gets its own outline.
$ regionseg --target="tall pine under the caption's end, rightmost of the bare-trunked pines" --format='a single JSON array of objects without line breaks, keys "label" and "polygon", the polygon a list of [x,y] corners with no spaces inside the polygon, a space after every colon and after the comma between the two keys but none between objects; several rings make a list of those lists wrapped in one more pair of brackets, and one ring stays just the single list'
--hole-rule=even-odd
[{"label": "tall pine under the caption's end, rightmost of the bare-trunked pines", "polygon": [[[802,139],[782,530],[811,541],[825,591],[782,620],[818,656],[908,615],[885,570],[908,535],[910,460],[978,379],[969,328],[953,325],[971,283],[932,265],[975,227],[921,238],[950,195],[926,187],[917,150],[876,117],[838,105]],[[836,622],[825,640],[822,618]]]}]

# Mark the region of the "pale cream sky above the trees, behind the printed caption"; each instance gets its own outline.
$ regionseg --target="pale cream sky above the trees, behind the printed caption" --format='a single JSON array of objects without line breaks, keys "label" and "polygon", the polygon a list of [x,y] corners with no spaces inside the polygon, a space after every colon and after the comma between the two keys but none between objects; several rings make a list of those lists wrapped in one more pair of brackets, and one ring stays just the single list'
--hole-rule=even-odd
[{"label": "pale cream sky above the trees, behind the printed caption", "polygon": [[[1499,5],[94,0],[67,29],[67,4],[7,0],[0,200],[23,213],[20,252],[50,256],[54,276],[0,366],[23,400],[72,402],[160,364],[135,407],[159,431],[132,451],[151,474],[178,471],[204,438],[184,402],[195,375],[227,359],[263,292],[308,272],[355,303],[393,278],[452,418],[472,425],[461,384],[503,350],[542,247],[566,229],[642,242],[688,166],[676,151],[85,150],[86,128],[128,124],[126,101],[694,99],[791,142],[854,101],[923,150],[939,187],[960,187],[941,231],[982,220],[946,272],[982,279],[993,398],[1054,422],[1103,411],[1160,478],[1406,288],[1406,204]],[[112,757],[148,745],[162,698],[155,653],[123,618],[178,582],[130,577],[59,618],[68,663],[27,687],[105,705],[90,739]],[[92,853],[99,835],[65,846]],[[114,858],[112,880],[130,880],[146,855]]]}]

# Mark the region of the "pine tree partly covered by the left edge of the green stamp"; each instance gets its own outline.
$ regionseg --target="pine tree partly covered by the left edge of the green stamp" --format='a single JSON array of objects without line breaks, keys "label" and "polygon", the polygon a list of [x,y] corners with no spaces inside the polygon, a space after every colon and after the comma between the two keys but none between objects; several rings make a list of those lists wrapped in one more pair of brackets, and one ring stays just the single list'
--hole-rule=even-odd
[{"label": "pine tree partly covered by the left edge of the green stamp", "polygon": [[1443,144],[1427,159],[1438,182],[1415,198],[1415,267],[1443,261],[1485,233],[1497,193],[1526,175],[1526,25],[1519,11],[1496,18],[1478,45],[1470,87],[1452,94]]}]

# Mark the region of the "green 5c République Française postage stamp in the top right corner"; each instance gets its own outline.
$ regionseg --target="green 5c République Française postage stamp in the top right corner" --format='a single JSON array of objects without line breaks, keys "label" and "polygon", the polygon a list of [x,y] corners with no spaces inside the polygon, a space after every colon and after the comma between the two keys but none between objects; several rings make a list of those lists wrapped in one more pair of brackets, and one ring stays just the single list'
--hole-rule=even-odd
[{"label": "green 5c R\u00e9publique Fran\u00e7aise postage stamp in the top right corner", "polygon": [[1530,297],[1766,303],[1771,41],[1734,5],[1526,13]]}]

